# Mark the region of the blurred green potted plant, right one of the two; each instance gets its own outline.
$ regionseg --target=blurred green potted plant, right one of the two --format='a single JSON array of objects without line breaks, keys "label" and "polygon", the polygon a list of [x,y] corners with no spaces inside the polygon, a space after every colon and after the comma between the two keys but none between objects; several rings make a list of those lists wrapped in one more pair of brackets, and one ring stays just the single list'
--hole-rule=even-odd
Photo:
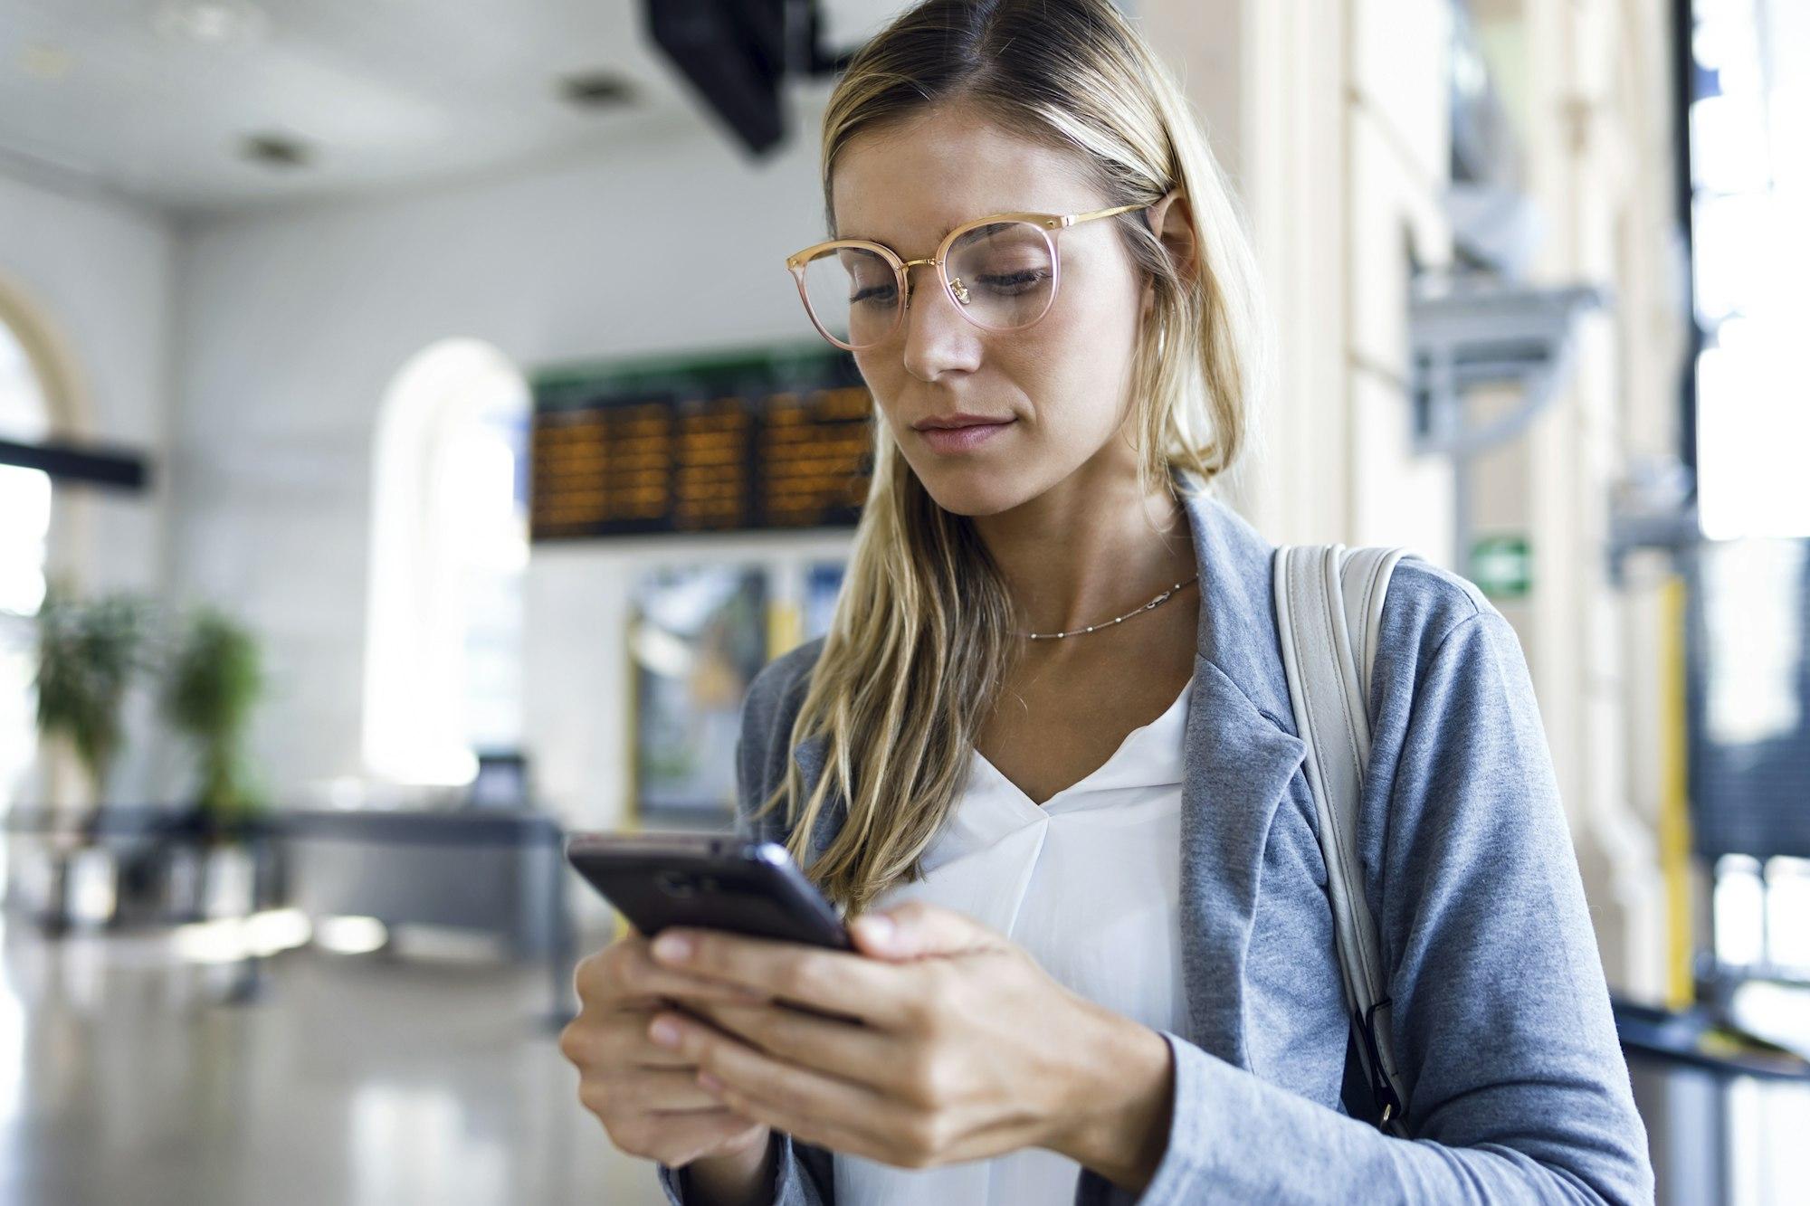
[{"label": "blurred green potted plant, right one of the two", "polygon": [[206,913],[257,907],[246,822],[262,799],[246,755],[252,713],[264,694],[257,637],[215,608],[199,608],[177,636],[163,674],[163,717],[195,751],[195,809],[206,835]]}]

